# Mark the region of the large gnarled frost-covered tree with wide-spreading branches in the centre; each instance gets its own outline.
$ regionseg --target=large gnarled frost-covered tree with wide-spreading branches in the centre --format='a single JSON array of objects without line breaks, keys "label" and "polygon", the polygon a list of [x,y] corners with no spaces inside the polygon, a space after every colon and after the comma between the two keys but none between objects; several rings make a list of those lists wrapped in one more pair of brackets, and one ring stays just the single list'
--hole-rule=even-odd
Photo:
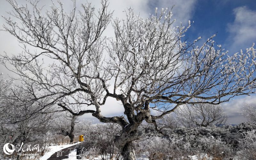
[{"label": "large gnarled frost-covered tree with wide-spreading branches in the centre", "polygon": [[[31,101],[47,99],[35,112],[57,104],[56,109],[76,116],[90,113],[100,122],[119,124],[122,133],[116,135],[115,145],[124,160],[135,159],[132,142],[144,120],[159,131],[156,120],[180,105],[220,104],[255,92],[253,45],[228,56],[215,46],[215,35],[202,46],[196,45],[201,37],[183,42],[190,21],[187,28],[172,27],[168,9],[146,19],[128,9],[125,20],[112,21],[115,37],[107,38],[103,31],[112,12],[106,1],[98,11],[91,4],[82,4],[78,11],[74,4],[69,13],[61,2],[44,10],[38,0],[29,1],[29,10],[29,5],[7,1],[13,12],[4,17],[4,29],[24,47],[18,56],[3,55],[2,64],[14,67],[10,70],[20,76]],[[122,103],[125,117],[101,114],[109,97]]]}]

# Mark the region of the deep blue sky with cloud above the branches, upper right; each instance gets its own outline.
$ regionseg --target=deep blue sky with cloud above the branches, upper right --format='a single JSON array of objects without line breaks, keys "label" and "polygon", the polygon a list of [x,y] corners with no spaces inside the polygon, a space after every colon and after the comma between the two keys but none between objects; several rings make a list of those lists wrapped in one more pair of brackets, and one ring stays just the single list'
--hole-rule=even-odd
[{"label": "deep blue sky with cloud above the branches, upper right", "polygon": [[[186,26],[184,19],[194,21],[186,33],[186,37],[191,41],[198,36],[207,39],[217,33],[214,40],[230,51],[229,54],[246,49],[256,41],[256,3],[254,0],[157,0],[148,3],[151,13],[155,11],[155,7],[172,8],[173,4],[176,4],[173,14],[174,17],[178,14],[177,22],[181,21]],[[180,7],[182,5],[186,11],[182,10]],[[184,7],[186,5],[187,7]],[[179,19],[179,12],[187,12],[188,15],[186,18]]]}]

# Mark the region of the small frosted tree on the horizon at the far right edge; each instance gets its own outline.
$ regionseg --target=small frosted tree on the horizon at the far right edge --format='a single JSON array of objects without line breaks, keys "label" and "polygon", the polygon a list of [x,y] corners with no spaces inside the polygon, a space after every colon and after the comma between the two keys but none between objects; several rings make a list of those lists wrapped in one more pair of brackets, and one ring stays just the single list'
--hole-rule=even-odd
[{"label": "small frosted tree on the horizon at the far right edge", "polygon": [[246,117],[249,122],[256,123],[256,106],[245,103],[242,115]]}]

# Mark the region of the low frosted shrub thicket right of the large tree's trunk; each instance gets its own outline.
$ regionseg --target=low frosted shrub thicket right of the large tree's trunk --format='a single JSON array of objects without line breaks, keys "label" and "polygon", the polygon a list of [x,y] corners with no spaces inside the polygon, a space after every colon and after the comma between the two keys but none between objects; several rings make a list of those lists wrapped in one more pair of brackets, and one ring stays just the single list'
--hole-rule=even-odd
[{"label": "low frosted shrub thicket right of the large tree's trunk", "polygon": [[138,156],[149,159],[191,159],[192,155],[203,154],[213,159],[234,159],[246,153],[248,157],[245,158],[255,159],[256,124],[175,128],[168,131],[169,137],[152,132],[152,126],[145,127],[149,129],[142,134],[143,139],[135,143]]}]

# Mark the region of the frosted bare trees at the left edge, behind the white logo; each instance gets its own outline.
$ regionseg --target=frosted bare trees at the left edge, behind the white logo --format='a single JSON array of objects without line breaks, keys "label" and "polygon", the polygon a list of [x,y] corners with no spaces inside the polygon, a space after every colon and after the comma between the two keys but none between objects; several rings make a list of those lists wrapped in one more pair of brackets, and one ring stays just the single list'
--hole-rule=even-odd
[{"label": "frosted bare trees at the left edge, behind the white logo", "polygon": [[[35,113],[35,108],[41,108],[39,103],[28,103],[29,95],[22,88],[15,87],[12,80],[0,77],[0,147],[11,143],[19,150],[23,145],[43,145],[42,139],[50,130],[52,114]],[[19,99],[17,99],[19,97]],[[29,99],[30,100],[30,99]],[[48,113],[48,110],[43,109]],[[19,160],[21,156],[15,152],[8,156],[0,152],[0,158]]]}]

